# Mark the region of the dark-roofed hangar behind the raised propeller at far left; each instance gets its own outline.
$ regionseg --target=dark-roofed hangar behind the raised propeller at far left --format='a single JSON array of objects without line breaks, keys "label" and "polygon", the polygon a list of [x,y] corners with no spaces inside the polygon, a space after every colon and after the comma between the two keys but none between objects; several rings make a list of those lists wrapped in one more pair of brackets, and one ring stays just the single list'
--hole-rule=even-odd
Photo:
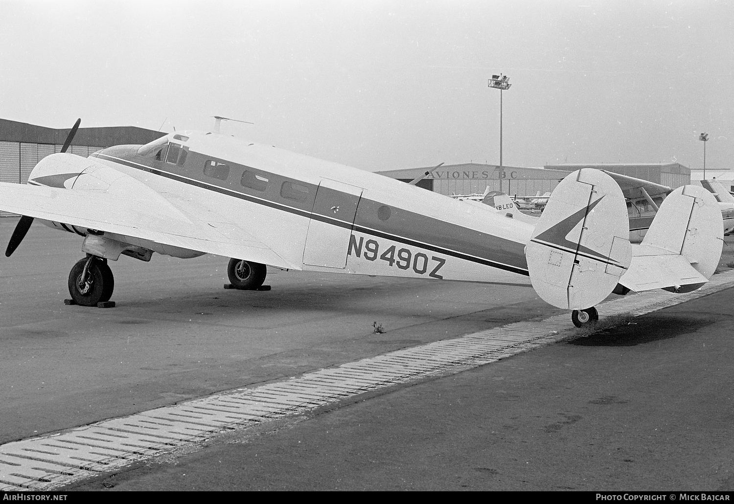
[{"label": "dark-roofed hangar behind the raised propeller at far left", "polygon": [[[69,131],[0,119],[0,182],[26,183],[38,161],[61,152]],[[86,158],[105,147],[147,144],[164,134],[135,126],[79,128],[67,152]]]}]

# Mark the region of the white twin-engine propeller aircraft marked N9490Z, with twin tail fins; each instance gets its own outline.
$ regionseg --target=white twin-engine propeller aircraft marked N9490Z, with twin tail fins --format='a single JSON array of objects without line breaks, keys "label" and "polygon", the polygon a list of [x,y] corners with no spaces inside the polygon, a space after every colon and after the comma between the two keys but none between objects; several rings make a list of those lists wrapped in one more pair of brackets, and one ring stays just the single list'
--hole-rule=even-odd
[{"label": "white twin-engine propeller aircraft marked N9490Z, with twin tail fins", "polygon": [[[71,136],[71,134],[70,134]],[[71,140],[68,139],[67,143]],[[470,204],[468,204],[470,203]],[[629,241],[625,198],[603,172],[568,175],[534,223],[360,169],[215,132],[173,133],[148,145],[81,158],[43,158],[27,185],[0,183],[0,209],[21,214],[6,255],[33,219],[84,238],[72,299],[106,302],[108,260],[153,252],[233,258],[237,288],[262,285],[265,265],[349,274],[512,282],[597,319],[610,293],[685,292],[711,277],[722,217],[704,189],[676,189],[645,241]]]}]

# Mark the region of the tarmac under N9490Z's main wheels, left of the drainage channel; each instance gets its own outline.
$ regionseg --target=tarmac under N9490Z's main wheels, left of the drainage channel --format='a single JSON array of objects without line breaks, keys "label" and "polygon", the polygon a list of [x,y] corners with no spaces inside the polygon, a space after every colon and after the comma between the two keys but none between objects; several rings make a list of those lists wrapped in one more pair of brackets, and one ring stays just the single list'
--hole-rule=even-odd
[{"label": "tarmac under N9490Z's main wheels, left of the drainage channel", "polygon": [[560,313],[529,285],[274,269],[227,290],[228,258],[157,254],[109,261],[117,307],[67,306],[80,249],[34,223],[0,260],[0,443]]}]

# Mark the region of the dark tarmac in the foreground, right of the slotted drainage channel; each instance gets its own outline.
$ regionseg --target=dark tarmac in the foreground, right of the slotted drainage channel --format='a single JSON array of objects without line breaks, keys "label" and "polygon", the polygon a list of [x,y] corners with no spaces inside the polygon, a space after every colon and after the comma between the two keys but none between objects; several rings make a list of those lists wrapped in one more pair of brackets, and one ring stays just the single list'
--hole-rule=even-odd
[{"label": "dark tarmac in the foreground, right of the slotted drainage channel", "polygon": [[732,295],[69,489],[732,491]]}]

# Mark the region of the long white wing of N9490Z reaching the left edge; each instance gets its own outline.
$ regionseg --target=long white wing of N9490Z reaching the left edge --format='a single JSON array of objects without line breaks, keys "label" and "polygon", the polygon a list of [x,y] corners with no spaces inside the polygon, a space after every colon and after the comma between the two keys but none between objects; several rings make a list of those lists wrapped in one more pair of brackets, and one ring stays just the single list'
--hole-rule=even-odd
[{"label": "long white wing of N9490Z reaching the left edge", "polygon": [[173,211],[172,205],[160,195],[150,197],[148,193],[148,200],[141,205],[139,201],[102,191],[17,183],[0,183],[0,195],[0,208],[12,213],[228,258],[245,258],[280,268],[298,269],[236,224],[214,222],[214,219],[207,222],[186,216]]}]

